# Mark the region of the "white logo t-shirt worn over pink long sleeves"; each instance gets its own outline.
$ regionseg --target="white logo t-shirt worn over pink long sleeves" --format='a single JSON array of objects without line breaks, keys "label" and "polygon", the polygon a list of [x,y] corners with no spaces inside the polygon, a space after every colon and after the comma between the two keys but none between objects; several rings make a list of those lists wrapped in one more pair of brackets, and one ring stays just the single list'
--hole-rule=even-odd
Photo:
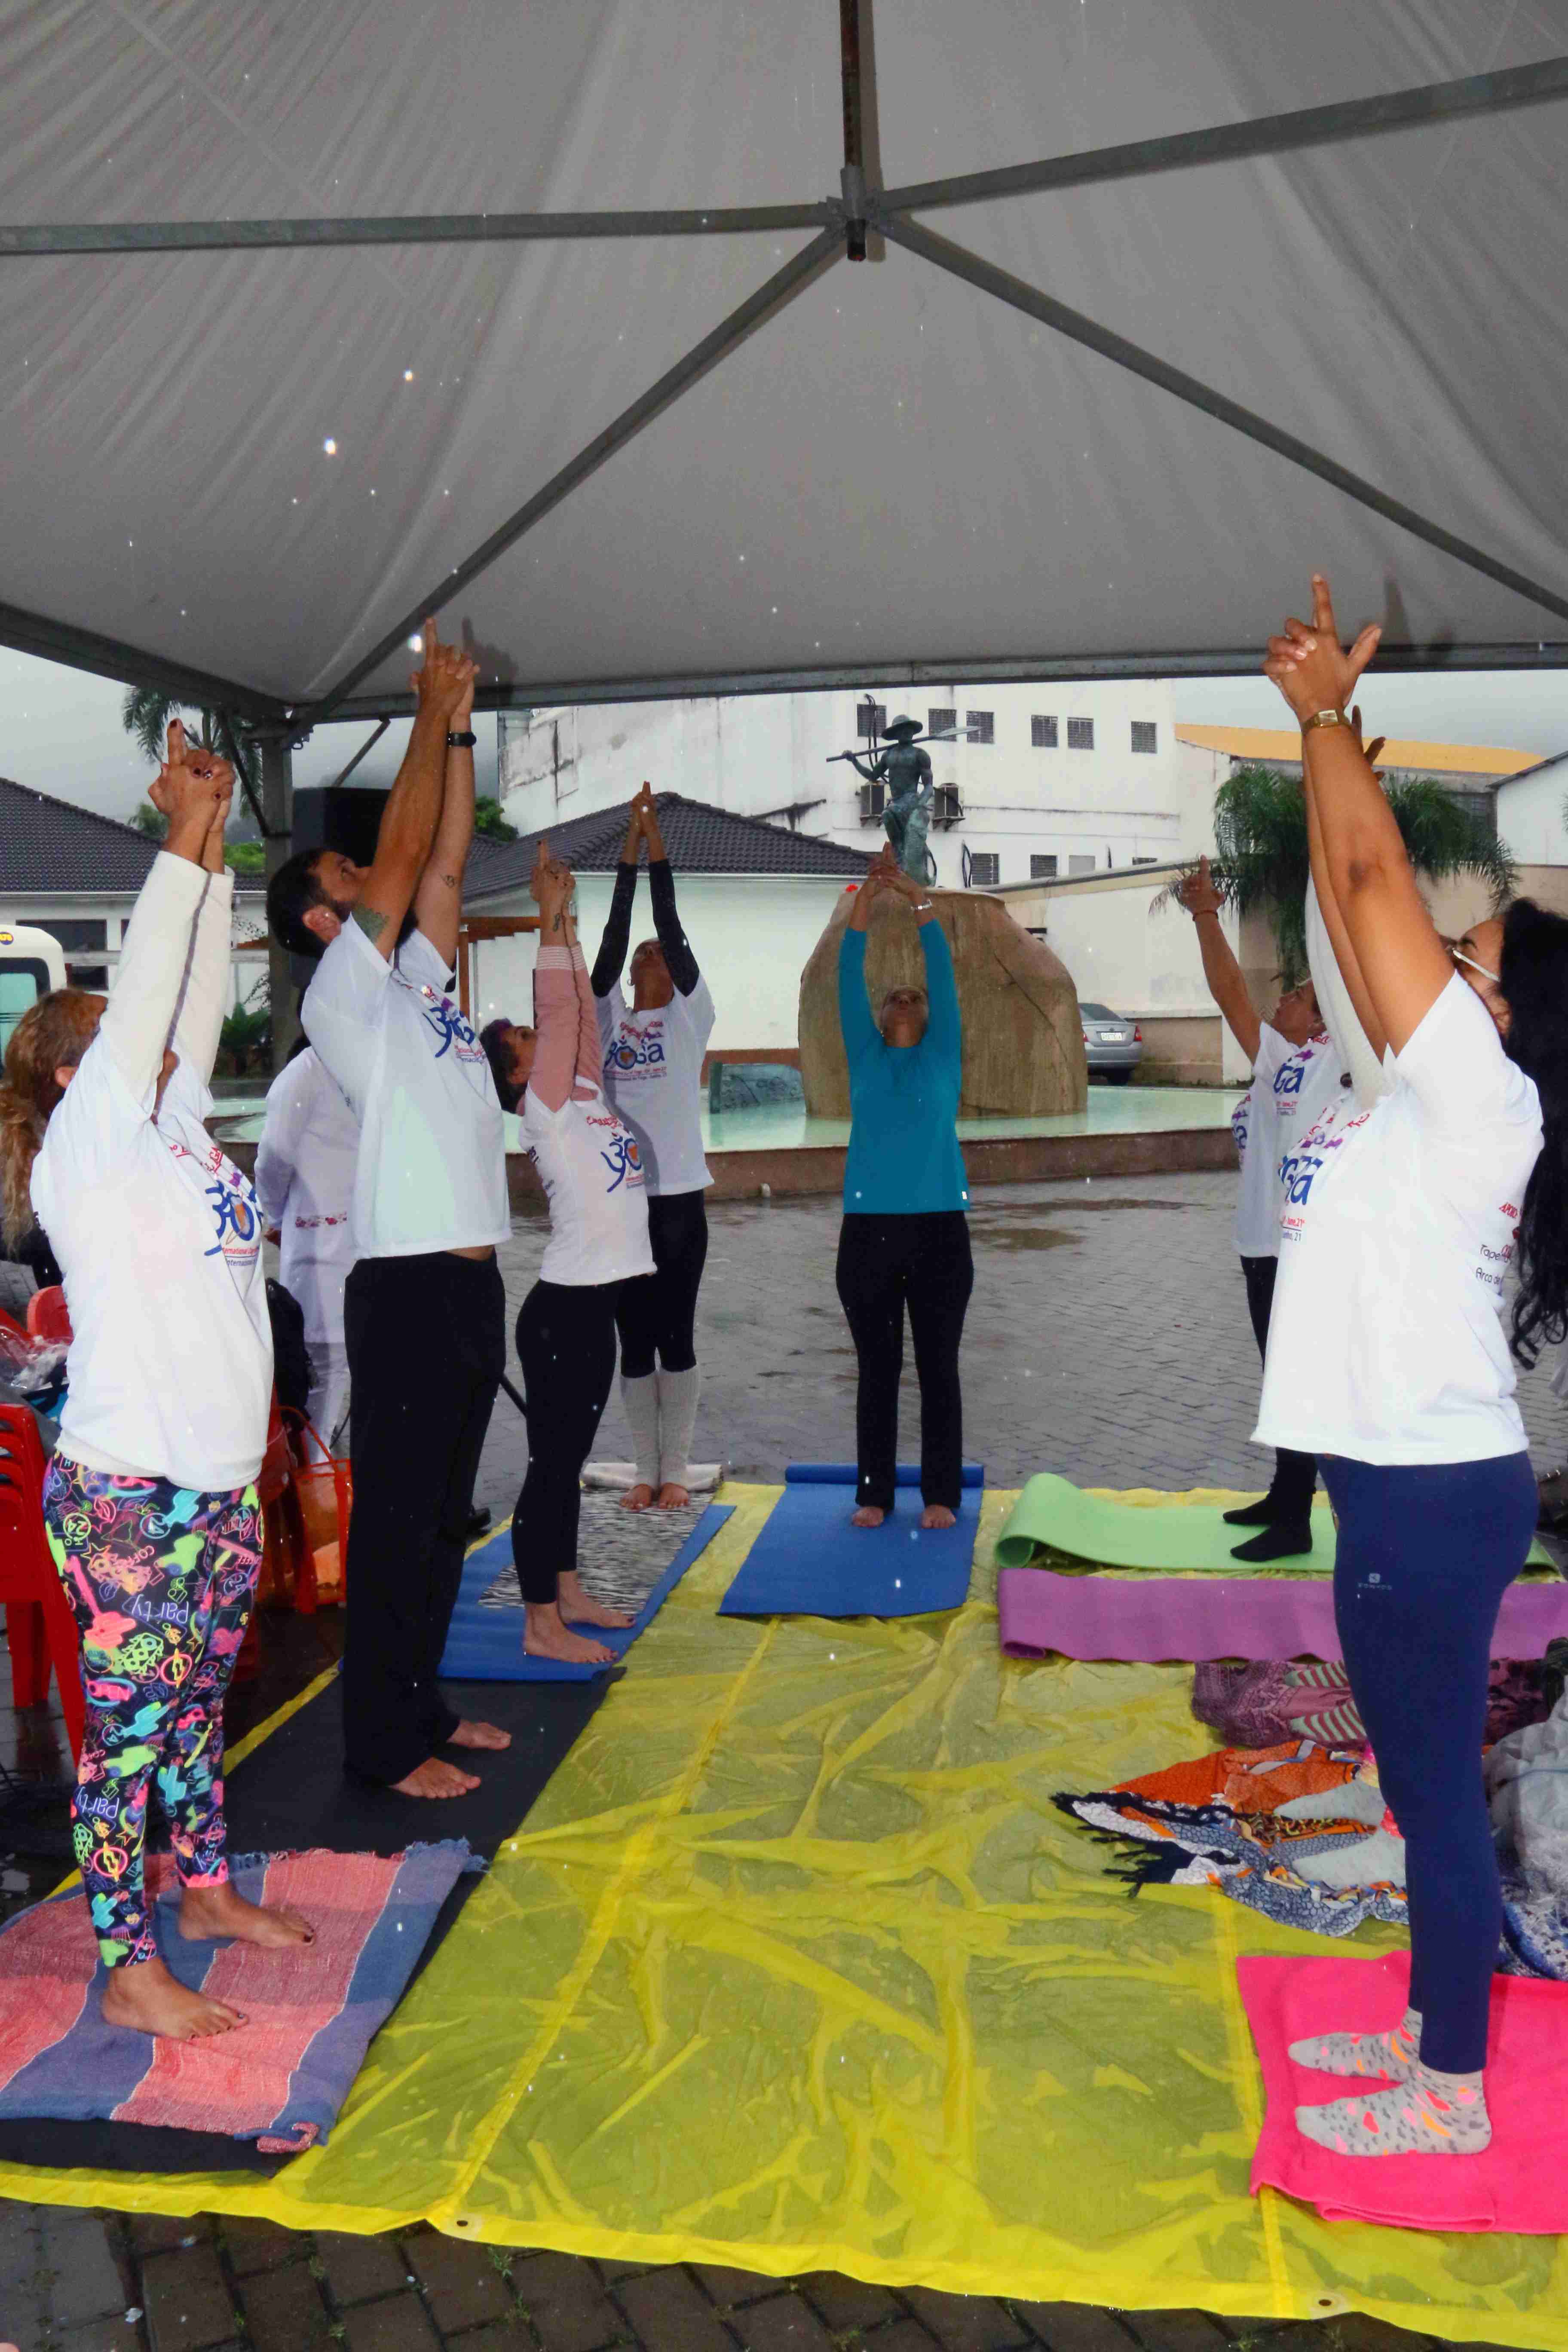
[{"label": "white logo t-shirt worn over pink long sleeves", "polygon": [[538,1279],[590,1287],[651,1275],[642,1150],[614,1103],[590,1094],[545,1110],[529,1089],[522,1138],[550,1197],[550,1240]]}]

